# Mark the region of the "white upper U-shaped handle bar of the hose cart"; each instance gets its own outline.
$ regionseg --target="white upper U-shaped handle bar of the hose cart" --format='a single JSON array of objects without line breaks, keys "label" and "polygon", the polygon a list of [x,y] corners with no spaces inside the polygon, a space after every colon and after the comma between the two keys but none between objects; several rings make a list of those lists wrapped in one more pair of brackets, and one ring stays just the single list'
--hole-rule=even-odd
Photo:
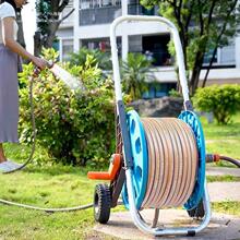
[{"label": "white upper U-shaped handle bar of the hose cart", "polygon": [[173,37],[177,63],[179,67],[179,79],[182,87],[182,95],[184,103],[189,100],[189,87],[185,77],[185,67],[184,58],[182,52],[181,40],[178,34],[177,27],[167,19],[161,16],[141,16],[141,15],[124,15],[116,19],[110,26],[110,43],[111,43],[111,57],[112,57],[112,67],[113,67],[113,80],[115,80],[115,89],[116,89],[116,100],[122,100],[121,83],[120,83],[120,71],[119,71],[119,59],[118,59],[118,48],[116,40],[116,28],[117,26],[125,21],[141,21],[141,22],[159,22],[167,25],[170,29],[170,33]]}]

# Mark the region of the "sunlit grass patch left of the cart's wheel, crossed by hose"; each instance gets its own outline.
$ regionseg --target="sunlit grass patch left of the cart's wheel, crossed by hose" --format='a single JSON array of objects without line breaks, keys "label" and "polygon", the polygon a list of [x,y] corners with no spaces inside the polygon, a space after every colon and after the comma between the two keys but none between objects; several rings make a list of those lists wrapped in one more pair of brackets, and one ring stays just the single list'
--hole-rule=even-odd
[{"label": "sunlit grass patch left of the cart's wheel, crossed by hose", "polygon": [[[91,203],[95,182],[86,171],[72,167],[31,167],[14,175],[0,175],[1,199],[65,207]],[[47,214],[0,206],[0,236],[4,239],[84,239],[94,224],[93,209]]]}]

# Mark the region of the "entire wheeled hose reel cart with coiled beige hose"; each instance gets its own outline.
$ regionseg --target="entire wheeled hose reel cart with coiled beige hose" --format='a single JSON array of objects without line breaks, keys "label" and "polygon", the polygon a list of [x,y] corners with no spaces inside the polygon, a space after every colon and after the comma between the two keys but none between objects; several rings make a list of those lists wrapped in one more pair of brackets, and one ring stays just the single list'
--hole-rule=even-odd
[{"label": "entire wheeled hose reel cart with coiled beige hose", "polygon": [[[179,118],[140,118],[125,112],[122,101],[116,28],[122,22],[146,21],[165,24],[176,48],[184,111]],[[108,172],[88,172],[89,179],[109,180],[95,189],[95,219],[106,224],[110,208],[119,195],[130,211],[134,225],[154,236],[194,236],[211,219],[209,199],[205,181],[205,141],[197,116],[189,99],[181,41],[176,26],[165,17],[125,15],[110,27],[111,57],[116,92],[116,154]],[[203,218],[196,227],[161,228],[157,226],[159,209],[184,206],[190,213],[203,206]],[[141,216],[144,208],[154,208],[153,224]],[[190,214],[190,216],[192,216]],[[194,216],[194,214],[193,214]]]}]

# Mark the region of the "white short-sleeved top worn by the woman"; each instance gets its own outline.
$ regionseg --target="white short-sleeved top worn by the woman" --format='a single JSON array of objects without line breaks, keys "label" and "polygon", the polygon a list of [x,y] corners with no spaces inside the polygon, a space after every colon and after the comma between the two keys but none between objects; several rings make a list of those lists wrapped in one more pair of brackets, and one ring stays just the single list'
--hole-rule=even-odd
[{"label": "white short-sleeved top worn by the woman", "polygon": [[14,24],[13,24],[13,38],[16,40],[17,37],[17,31],[19,31],[19,26],[16,23],[16,14],[15,14],[15,10],[13,9],[13,7],[11,4],[9,4],[8,2],[3,2],[2,4],[0,4],[0,44],[3,43],[2,40],[2,35],[3,35],[3,24],[2,24],[2,20],[4,17],[13,17],[14,19]]}]

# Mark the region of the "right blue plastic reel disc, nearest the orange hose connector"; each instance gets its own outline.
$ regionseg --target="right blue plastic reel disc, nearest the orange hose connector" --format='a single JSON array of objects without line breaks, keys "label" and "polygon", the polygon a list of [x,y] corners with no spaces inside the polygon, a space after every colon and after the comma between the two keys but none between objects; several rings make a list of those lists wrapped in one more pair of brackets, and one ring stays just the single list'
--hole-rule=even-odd
[{"label": "right blue plastic reel disc, nearest the orange hose connector", "polygon": [[199,170],[196,173],[195,187],[192,195],[184,204],[185,209],[190,211],[195,208],[199,205],[201,199],[203,197],[204,182],[205,182],[205,165],[206,165],[205,140],[204,140],[202,124],[199,120],[199,117],[194,112],[183,111],[179,116],[179,119],[188,123],[193,130],[196,140],[197,152],[199,152]]}]

